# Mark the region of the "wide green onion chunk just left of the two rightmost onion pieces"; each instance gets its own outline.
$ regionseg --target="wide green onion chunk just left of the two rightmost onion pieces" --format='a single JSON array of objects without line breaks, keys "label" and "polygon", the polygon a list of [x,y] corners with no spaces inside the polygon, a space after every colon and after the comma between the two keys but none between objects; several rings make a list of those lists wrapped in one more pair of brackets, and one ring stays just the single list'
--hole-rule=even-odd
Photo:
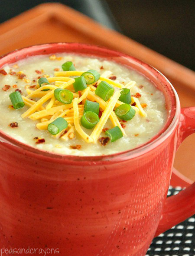
[{"label": "wide green onion chunk just left of the two rightmost onion pieces", "polygon": [[113,93],[114,88],[105,81],[101,81],[95,90],[95,94],[105,101],[109,100]]}]

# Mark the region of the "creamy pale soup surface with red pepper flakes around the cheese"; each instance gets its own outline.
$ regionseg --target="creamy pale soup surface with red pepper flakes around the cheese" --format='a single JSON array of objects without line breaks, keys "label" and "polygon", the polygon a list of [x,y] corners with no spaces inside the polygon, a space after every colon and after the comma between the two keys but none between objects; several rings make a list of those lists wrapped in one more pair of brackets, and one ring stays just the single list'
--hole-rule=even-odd
[{"label": "creamy pale soup surface with red pepper flakes around the cheese", "polygon": [[[130,88],[132,96],[130,104],[132,104],[132,108],[134,107],[136,110],[135,116],[131,120],[121,120],[115,115],[117,105],[114,107],[115,118],[117,118],[121,129],[123,129],[122,138],[114,142],[109,140],[109,136],[106,135],[105,131],[113,128],[114,124],[108,116],[105,125],[101,127],[101,133],[97,140],[94,142],[86,142],[79,134],[78,130],[75,129],[74,111],[72,107],[66,115],[68,116],[67,120],[71,120],[70,124],[68,125],[67,130],[61,134],[62,136],[60,138],[58,135],[52,136],[52,134],[48,132],[46,125],[44,126],[44,122],[47,124],[51,118],[54,120],[59,114],[62,114],[62,110],[53,114],[41,116],[39,119],[31,118],[29,116],[23,118],[21,116],[35,102],[49,92],[39,90],[41,96],[38,93],[33,95],[33,92],[39,87],[37,83],[38,79],[40,77],[46,77],[49,80],[50,77],[59,76],[58,72],[63,71],[62,64],[66,61],[72,61],[75,65],[75,69],[79,71],[97,70],[103,78],[107,78],[108,83],[109,81],[110,83],[113,81],[114,84],[111,84],[111,86],[114,87],[115,91],[120,89],[115,86],[117,83],[120,84],[120,86],[129,85],[127,88]],[[74,79],[76,76],[73,75],[70,77]],[[90,87],[90,92],[94,95],[94,90],[99,82],[100,81],[94,83]],[[59,86],[59,82],[57,83],[55,81],[51,81],[50,84],[57,84],[56,86]],[[151,139],[162,129],[167,119],[165,97],[161,91],[149,82],[149,80],[146,80],[144,76],[125,66],[120,66],[117,63],[93,57],[89,58],[74,54],[29,57],[26,60],[21,60],[15,64],[10,66],[7,65],[0,69],[0,87],[0,129],[16,140],[26,143],[29,146],[53,153],[94,156],[108,155],[130,150]],[[72,85],[69,89],[74,93]],[[21,95],[24,96],[25,106],[23,108],[14,109],[12,106],[9,95],[15,91],[19,91]],[[78,96],[76,94],[78,94]],[[76,94],[74,94],[74,97],[79,97],[83,92],[81,92],[80,95],[79,93]],[[32,97],[28,95],[32,95]],[[86,99],[91,100],[91,98],[88,98],[87,96],[87,98],[84,98],[84,100],[78,104],[79,119],[83,115],[83,106]],[[141,109],[133,99],[138,100]],[[39,113],[39,110],[44,110],[50,100],[51,99],[43,103],[42,106],[39,106],[39,109],[36,110],[38,112],[35,111],[34,113]],[[109,104],[110,101],[108,100],[106,104]],[[54,103],[52,108],[55,106],[62,106],[62,104],[63,103]],[[101,108],[100,104],[100,120],[101,114],[103,113],[104,109]],[[37,125],[38,123],[39,125]],[[88,136],[90,136],[93,129],[95,129],[86,129],[82,125],[80,125],[80,127]],[[72,132],[68,133],[67,131],[70,128]],[[105,140],[104,138],[108,138],[108,140]]]}]

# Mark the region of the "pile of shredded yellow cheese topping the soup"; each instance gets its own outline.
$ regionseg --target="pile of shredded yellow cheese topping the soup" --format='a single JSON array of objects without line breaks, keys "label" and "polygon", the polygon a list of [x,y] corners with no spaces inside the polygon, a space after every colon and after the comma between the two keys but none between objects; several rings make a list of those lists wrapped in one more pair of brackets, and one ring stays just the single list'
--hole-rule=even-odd
[{"label": "pile of shredded yellow cheese topping the soup", "polygon": [[[57,139],[62,140],[70,140],[75,138],[75,131],[81,136],[81,138],[88,143],[96,143],[101,131],[104,128],[107,120],[110,119],[111,123],[114,126],[119,126],[120,130],[123,133],[123,136],[126,135],[123,127],[120,124],[119,119],[114,113],[114,109],[117,106],[123,104],[123,102],[119,101],[120,90],[115,90],[113,96],[105,102],[99,96],[95,94],[96,87],[94,84],[88,85],[81,94],[74,93],[73,83],[75,80],[70,76],[81,76],[84,71],[57,71],[54,73],[54,77],[48,77],[49,85],[44,85],[39,87],[37,83],[36,90],[26,89],[27,96],[22,96],[24,103],[29,109],[23,113],[22,118],[30,118],[32,120],[39,120],[39,123],[36,124],[36,127],[39,130],[47,130],[49,123],[52,123],[58,117],[64,118],[68,122],[68,126],[65,130],[62,130],[57,135],[52,135]],[[108,77],[110,76],[110,71],[105,71],[97,81],[96,85],[101,81],[106,81],[110,85],[114,87],[128,88],[131,89],[136,82],[130,81],[126,85],[121,83],[117,83],[117,81],[111,80]],[[64,104],[55,100],[54,90],[56,88],[68,89],[73,93],[73,100],[70,104]],[[44,89],[49,89],[47,91],[43,91]],[[35,101],[34,98],[38,98],[39,100]],[[100,110],[102,112],[102,116],[94,127],[91,135],[89,136],[84,132],[82,126],[80,124],[81,116],[84,111],[84,102],[85,100],[96,101],[99,103]],[[136,97],[131,97],[131,104],[134,103],[132,108],[136,111],[136,114],[140,114],[141,116],[146,116],[146,112],[143,110],[139,100]]]}]

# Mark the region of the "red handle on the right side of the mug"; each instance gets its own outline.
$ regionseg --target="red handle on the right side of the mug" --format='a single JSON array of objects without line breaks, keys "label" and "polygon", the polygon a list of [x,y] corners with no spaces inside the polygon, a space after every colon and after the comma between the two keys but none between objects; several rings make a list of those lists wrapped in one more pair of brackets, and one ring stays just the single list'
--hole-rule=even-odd
[{"label": "red handle on the right side of the mug", "polygon": [[[195,132],[195,106],[182,108],[177,149],[183,140]],[[175,196],[166,199],[155,236],[165,232],[195,214],[195,182]]]}]

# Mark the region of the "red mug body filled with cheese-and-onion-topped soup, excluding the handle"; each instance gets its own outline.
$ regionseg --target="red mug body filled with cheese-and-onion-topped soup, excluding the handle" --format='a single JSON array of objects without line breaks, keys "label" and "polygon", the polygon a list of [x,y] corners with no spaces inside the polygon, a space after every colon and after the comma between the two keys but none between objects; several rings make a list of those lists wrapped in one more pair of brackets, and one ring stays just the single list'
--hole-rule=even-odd
[{"label": "red mug body filled with cheese-and-onion-topped soup, excluding the handle", "polygon": [[51,43],[1,57],[0,86],[1,247],[145,255],[179,131],[169,81],[123,53]]}]

